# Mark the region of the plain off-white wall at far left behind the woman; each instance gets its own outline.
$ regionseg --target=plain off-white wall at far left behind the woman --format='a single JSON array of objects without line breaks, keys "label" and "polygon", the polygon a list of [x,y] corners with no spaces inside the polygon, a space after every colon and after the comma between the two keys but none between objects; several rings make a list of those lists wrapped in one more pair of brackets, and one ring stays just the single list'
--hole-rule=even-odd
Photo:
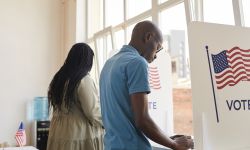
[{"label": "plain off-white wall at far left behind the woman", "polygon": [[29,138],[26,105],[47,95],[65,56],[62,5],[62,0],[0,1],[0,143],[15,144],[20,121]]}]

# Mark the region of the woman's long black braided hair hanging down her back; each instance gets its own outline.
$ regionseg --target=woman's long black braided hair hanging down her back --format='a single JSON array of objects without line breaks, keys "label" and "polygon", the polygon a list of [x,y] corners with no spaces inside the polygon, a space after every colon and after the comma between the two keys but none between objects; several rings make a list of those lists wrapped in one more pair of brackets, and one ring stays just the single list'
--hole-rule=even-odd
[{"label": "woman's long black braided hair hanging down her back", "polygon": [[93,50],[85,43],[76,43],[53,77],[48,90],[49,108],[60,111],[62,105],[70,111],[76,103],[76,91],[81,79],[91,70]]}]

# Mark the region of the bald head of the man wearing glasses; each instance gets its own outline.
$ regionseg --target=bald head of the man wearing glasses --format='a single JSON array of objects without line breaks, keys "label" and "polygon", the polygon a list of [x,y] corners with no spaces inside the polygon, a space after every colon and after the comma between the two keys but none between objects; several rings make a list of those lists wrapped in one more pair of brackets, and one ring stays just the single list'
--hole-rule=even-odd
[{"label": "bald head of the man wearing glasses", "polygon": [[142,21],[135,25],[129,45],[133,46],[149,63],[156,58],[162,48],[162,33],[151,21]]}]

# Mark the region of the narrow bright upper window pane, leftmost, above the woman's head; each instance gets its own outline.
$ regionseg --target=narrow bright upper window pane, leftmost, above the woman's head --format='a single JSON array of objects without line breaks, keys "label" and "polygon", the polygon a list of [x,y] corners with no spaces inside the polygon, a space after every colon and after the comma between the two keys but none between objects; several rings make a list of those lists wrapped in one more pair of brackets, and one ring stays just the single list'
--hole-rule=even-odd
[{"label": "narrow bright upper window pane, leftmost, above the woman's head", "polygon": [[103,7],[102,0],[88,1],[88,38],[103,29]]}]

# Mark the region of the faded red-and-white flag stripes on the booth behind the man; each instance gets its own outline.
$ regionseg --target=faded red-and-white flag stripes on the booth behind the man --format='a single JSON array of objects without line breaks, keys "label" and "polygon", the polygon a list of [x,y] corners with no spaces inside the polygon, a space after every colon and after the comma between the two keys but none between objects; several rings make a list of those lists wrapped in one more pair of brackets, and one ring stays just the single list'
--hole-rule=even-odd
[{"label": "faded red-and-white flag stripes on the booth behind the man", "polygon": [[161,88],[160,75],[157,67],[149,66],[149,85],[150,88],[155,90]]}]

